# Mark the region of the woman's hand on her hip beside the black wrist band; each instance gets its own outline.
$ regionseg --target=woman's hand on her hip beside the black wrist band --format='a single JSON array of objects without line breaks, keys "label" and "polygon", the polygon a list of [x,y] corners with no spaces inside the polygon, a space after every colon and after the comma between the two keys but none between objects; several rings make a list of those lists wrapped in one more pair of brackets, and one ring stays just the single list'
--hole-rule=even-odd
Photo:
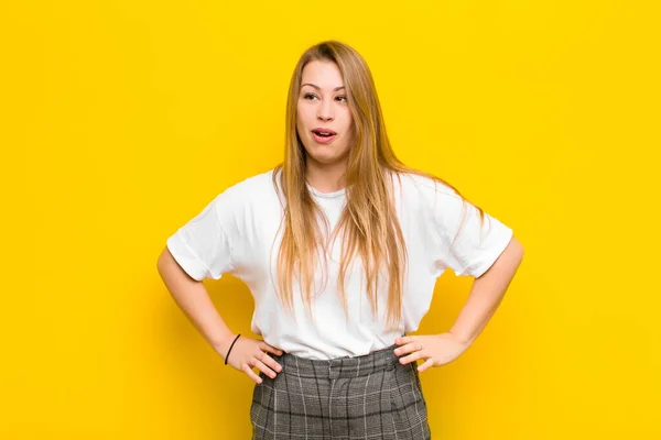
[{"label": "woman's hand on her hip beside the black wrist band", "polygon": [[[234,341],[235,338],[236,334],[231,341]],[[227,349],[225,349],[225,352],[220,353],[220,355],[225,356],[228,349],[229,344],[227,344]],[[257,367],[271,378],[275,378],[275,372],[280,373],[282,371],[282,365],[275,362],[273,358],[267,353],[273,353],[277,356],[281,356],[282,350],[271,346],[264,341],[241,336],[231,348],[229,356],[227,358],[227,363],[238,371],[246,373],[256,383],[261,384],[261,377],[254,374],[252,369]]]}]

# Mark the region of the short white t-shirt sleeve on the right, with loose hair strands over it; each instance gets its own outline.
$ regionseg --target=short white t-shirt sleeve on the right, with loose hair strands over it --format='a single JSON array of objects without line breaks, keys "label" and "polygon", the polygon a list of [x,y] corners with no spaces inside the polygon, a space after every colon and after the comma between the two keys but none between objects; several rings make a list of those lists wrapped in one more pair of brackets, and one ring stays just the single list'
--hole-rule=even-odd
[{"label": "short white t-shirt sleeve on the right, with loose hair strands over it", "polygon": [[481,276],[509,244],[512,229],[484,210],[480,221],[478,209],[452,188],[435,182],[431,185],[433,194],[427,194],[427,200],[437,275],[449,267],[456,276]]}]

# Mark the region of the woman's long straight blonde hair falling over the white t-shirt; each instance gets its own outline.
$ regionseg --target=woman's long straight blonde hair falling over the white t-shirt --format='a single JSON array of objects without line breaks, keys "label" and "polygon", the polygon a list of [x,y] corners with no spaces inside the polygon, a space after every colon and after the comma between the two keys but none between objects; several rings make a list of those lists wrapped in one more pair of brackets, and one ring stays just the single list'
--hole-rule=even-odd
[{"label": "woman's long straight blonde hair falling over the white t-shirt", "polygon": [[[347,103],[354,121],[354,139],[349,147],[346,172],[346,207],[339,217],[334,238],[342,234],[338,274],[339,296],[347,311],[345,278],[356,256],[365,270],[366,294],[372,312],[378,312],[378,286],[386,268],[388,280],[387,323],[400,323],[403,277],[408,255],[392,195],[392,176],[412,173],[431,177],[459,191],[445,180],[401,163],[390,144],[370,69],[353,47],[337,41],[325,41],[310,47],[301,56],[291,78],[286,102],[284,161],[273,173],[273,185],[283,206],[278,251],[277,292],[283,304],[293,306],[293,279],[300,280],[304,304],[311,310],[314,273],[319,258],[327,264],[329,243],[319,219],[327,222],[306,184],[306,152],[296,131],[297,100],[303,68],[312,61],[335,63],[344,78]],[[463,198],[466,200],[465,198]],[[480,221],[484,211],[479,210]],[[334,239],[333,238],[333,239]],[[327,278],[326,278],[327,280]]]}]

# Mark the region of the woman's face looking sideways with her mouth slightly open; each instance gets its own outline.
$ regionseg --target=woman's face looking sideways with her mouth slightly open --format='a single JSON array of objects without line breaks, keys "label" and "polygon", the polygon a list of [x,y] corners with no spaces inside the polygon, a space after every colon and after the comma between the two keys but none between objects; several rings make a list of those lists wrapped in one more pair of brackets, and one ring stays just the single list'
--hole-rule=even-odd
[{"label": "woman's face looking sideways with her mouth slightly open", "polygon": [[307,63],[299,90],[296,130],[308,158],[326,165],[345,160],[353,125],[337,65],[326,61]]}]

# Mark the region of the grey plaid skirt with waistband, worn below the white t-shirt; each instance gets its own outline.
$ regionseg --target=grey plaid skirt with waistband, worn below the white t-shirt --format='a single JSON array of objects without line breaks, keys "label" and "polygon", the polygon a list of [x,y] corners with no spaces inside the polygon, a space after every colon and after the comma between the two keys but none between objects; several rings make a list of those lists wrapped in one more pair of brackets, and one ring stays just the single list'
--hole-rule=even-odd
[{"label": "grey plaid skirt with waistband, worn below the white t-shirt", "polygon": [[260,372],[252,439],[430,439],[416,363],[400,364],[395,348],[329,361],[273,355],[282,372]]}]

